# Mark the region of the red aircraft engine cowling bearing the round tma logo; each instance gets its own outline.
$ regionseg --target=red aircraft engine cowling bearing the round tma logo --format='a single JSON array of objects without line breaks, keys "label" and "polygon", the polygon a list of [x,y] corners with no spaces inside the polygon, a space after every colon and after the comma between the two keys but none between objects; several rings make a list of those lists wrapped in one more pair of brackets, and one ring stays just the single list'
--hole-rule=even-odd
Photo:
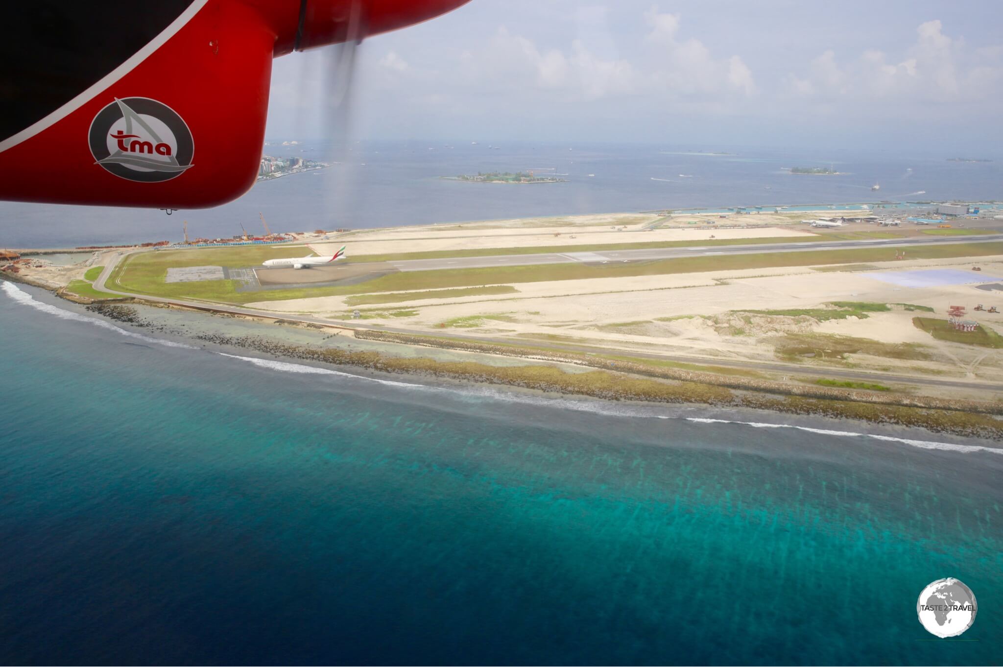
[{"label": "red aircraft engine cowling bearing the round tma logo", "polygon": [[[395,30],[467,2],[173,1],[177,12],[158,8],[162,29],[110,61],[110,71],[92,67],[64,81],[51,68],[43,76],[24,70],[31,76],[0,81],[29,107],[0,134],[0,200],[156,209],[230,202],[258,175],[274,57]],[[145,4],[128,6],[134,24]],[[98,19],[107,31],[108,18]],[[54,89],[68,92],[59,98]]]}]

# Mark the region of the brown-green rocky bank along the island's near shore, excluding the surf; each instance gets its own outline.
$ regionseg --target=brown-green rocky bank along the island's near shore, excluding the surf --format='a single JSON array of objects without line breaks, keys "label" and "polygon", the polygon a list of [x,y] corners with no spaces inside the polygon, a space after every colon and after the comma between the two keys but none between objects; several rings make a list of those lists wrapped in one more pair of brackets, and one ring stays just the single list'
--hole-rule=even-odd
[{"label": "brown-green rocky bank along the island's near shore, excluding the surf", "polygon": [[[1003,441],[1003,419],[1000,418],[1003,406],[997,403],[957,401],[951,407],[952,404],[945,399],[927,401],[915,396],[896,397],[825,387],[805,387],[801,395],[797,395],[789,391],[792,387],[787,387],[786,391],[779,386],[756,387],[733,377],[694,371],[663,369],[656,374],[650,368],[635,368],[627,362],[607,361],[604,363],[608,365],[604,367],[583,363],[585,360],[581,357],[560,352],[533,350],[530,355],[519,356],[505,354],[500,350],[471,349],[470,343],[462,347],[421,346],[398,338],[402,336],[400,334],[302,324],[281,317],[213,314],[162,304],[119,302],[98,304],[87,310],[105,319],[136,325],[134,314],[128,312],[133,306],[185,312],[201,318],[198,326],[205,327],[204,331],[181,335],[204,346],[243,350],[293,363],[318,364],[319,367],[341,372],[349,372],[346,369],[350,369],[352,374],[361,371],[397,378],[411,376],[418,378],[419,382],[431,380],[468,386],[490,385],[601,400],[610,404],[686,405],[710,411],[752,410],[760,416],[760,420],[767,413],[786,418],[851,419],[869,428],[919,428],[929,433]],[[222,327],[217,326],[220,321],[207,319],[210,317],[251,323],[257,327],[257,332],[221,332]],[[275,329],[277,326],[285,327],[286,331],[310,332],[316,337],[326,337],[328,341],[337,337],[340,343],[321,346],[320,340],[289,340],[292,338],[290,335],[283,340],[279,337],[282,330]],[[336,332],[332,334],[332,330]],[[353,345],[358,349],[351,349]],[[406,350],[406,356],[402,354],[402,349]],[[614,370],[617,364],[620,367]]]}]

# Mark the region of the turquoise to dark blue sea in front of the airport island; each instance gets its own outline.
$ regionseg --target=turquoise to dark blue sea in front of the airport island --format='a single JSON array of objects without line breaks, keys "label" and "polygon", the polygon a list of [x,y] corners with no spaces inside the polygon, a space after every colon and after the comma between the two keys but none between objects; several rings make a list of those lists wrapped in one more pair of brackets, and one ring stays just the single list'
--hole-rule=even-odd
[{"label": "turquoise to dark blue sea in front of the airport island", "polygon": [[[255,362],[0,287],[0,663],[1003,661],[999,451]],[[944,577],[954,640],[916,615]]]}]

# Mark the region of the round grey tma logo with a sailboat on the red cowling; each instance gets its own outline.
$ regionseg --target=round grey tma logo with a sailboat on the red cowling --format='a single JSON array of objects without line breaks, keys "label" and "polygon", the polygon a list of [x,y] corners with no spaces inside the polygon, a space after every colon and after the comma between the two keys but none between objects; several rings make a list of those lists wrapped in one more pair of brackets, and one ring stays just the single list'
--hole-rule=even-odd
[{"label": "round grey tma logo with a sailboat on the red cowling", "polygon": [[129,181],[170,181],[193,166],[192,130],[148,97],[115,98],[94,116],[87,138],[94,163]]}]

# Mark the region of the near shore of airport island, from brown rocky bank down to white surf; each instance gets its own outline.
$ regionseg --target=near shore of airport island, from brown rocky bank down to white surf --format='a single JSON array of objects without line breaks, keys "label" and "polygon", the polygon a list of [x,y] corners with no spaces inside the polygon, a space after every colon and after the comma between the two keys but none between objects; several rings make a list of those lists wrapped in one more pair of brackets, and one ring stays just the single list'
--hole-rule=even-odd
[{"label": "near shore of airport island, from brown rocky bank down to white surf", "polygon": [[[29,293],[29,296],[32,295]],[[62,308],[55,304],[48,305]],[[995,445],[1003,441],[1003,420],[993,419],[984,413],[810,398],[784,404],[783,397],[775,394],[764,394],[758,399],[751,394],[751,400],[744,398],[749,392],[739,392],[741,395],[737,400],[723,395],[718,395],[718,400],[696,400],[688,389],[696,387],[714,392],[723,388],[691,382],[669,384],[655,378],[575,367],[561,362],[548,364],[542,360],[369,341],[356,338],[350,330],[331,334],[320,325],[309,326],[278,318],[213,314],[135,301],[99,306],[97,309],[68,310],[94,318],[97,322],[114,322],[112,326],[129,335],[142,335],[169,346],[181,344],[193,350],[202,349],[244,360],[258,359],[261,365],[280,362],[313,367],[318,369],[317,372],[331,371],[391,384],[403,382],[459,392],[498,392],[496,397],[508,400],[521,400],[519,396],[525,396],[544,401],[542,404],[592,412],[624,414],[623,410],[629,408],[640,411],[635,416],[737,422],[750,427],[839,431],[877,439],[923,442],[927,444],[917,446],[928,448],[928,445],[939,442],[951,446],[999,449]],[[285,327],[287,340],[276,338],[283,333],[283,330],[276,329],[277,326]],[[227,329],[236,331],[227,332]],[[324,339],[337,339],[338,347],[322,347]],[[409,352],[410,356],[402,354],[402,350]],[[429,354],[422,356],[423,352]],[[597,384],[593,381],[595,376],[592,376],[597,372],[625,378],[623,381],[627,386]],[[556,378],[565,381],[556,381]],[[981,427],[966,423],[973,417],[981,422]]]}]

